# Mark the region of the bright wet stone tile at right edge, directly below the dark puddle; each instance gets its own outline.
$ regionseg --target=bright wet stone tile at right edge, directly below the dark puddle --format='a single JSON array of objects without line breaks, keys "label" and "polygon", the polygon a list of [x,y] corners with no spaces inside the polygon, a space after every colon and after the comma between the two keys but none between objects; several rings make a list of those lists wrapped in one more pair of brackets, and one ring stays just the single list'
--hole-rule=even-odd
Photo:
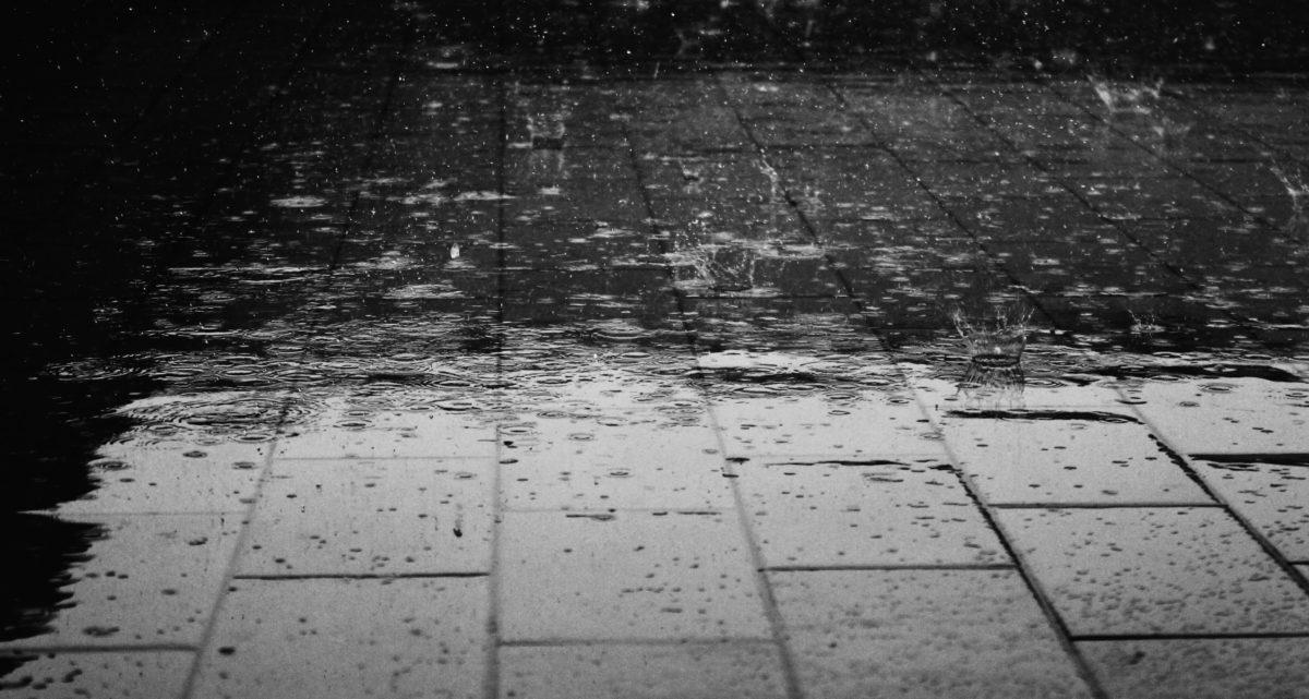
[{"label": "bright wet stone tile at right edge, directly below the dark puddle", "polygon": [[1309,453],[1309,390],[1262,378],[1144,382],[1141,415],[1190,454]]}]

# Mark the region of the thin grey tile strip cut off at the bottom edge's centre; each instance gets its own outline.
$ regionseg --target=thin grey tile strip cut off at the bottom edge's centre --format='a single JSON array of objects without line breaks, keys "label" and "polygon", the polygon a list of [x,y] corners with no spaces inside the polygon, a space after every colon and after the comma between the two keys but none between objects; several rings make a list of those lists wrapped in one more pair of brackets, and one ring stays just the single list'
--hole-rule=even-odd
[{"label": "thin grey tile strip cut off at the bottom edge's centre", "polygon": [[500,698],[787,696],[776,648],[758,644],[552,645],[500,649]]}]

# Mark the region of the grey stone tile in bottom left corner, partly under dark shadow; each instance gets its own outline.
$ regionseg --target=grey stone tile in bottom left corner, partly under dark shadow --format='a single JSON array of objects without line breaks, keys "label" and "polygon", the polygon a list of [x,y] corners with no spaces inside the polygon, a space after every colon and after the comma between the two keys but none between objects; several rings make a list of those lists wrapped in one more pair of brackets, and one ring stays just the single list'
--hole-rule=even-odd
[{"label": "grey stone tile in bottom left corner, partly under dark shadow", "polygon": [[0,696],[181,698],[194,658],[186,651],[0,654],[0,665],[18,662],[0,678]]}]

